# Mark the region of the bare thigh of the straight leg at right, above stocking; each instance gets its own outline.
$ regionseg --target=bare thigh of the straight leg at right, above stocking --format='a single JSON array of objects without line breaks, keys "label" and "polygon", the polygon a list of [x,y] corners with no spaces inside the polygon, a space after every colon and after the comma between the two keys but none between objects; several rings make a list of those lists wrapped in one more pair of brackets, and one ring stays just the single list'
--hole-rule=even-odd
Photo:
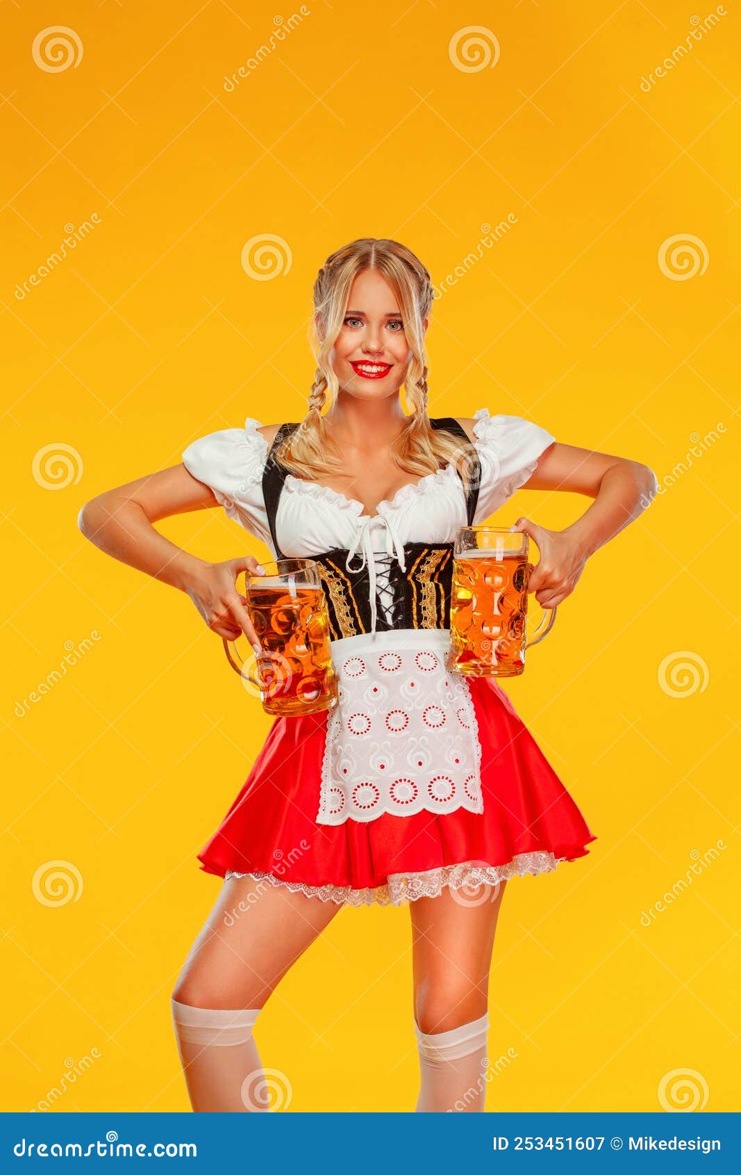
[{"label": "bare thigh of the straight leg at right, above stocking", "polygon": [[446,1032],[486,1012],[505,886],[444,886],[437,898],[410,902],[415,1019],[422,1032]]}]

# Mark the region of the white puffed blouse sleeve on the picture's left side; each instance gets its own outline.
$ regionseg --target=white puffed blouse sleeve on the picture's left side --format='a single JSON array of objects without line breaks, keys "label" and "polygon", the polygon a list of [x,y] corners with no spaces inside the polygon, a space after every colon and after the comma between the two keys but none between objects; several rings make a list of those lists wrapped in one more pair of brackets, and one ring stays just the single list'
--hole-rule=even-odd
[{"label": "white puffed blouse sleeve on the picture's left side", "polygon": [[214,491],[228,518],[270,545],[262,494],[268,442],[257,431],[260,427],[260,421],[248,416],[243,429],[220,429],[198,437],[183,450],[182,463]]}]

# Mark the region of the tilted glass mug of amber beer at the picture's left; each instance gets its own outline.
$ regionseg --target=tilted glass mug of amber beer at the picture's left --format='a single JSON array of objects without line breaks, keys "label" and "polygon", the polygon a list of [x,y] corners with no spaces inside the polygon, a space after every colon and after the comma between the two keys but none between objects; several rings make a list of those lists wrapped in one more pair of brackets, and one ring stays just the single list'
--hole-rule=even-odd
[{"label": "tilted glass mug of amber beer at the picture's left", "polygon": [[337,678],[317,565],[312,559],[277,559],[263,566],[264,576],[244,572],[242,597],[262,652],[250,651],[248,666],[236,653],[236,642],[224,638],[229,664],[256,686],[269,714],[331,710],[337,705]]}]

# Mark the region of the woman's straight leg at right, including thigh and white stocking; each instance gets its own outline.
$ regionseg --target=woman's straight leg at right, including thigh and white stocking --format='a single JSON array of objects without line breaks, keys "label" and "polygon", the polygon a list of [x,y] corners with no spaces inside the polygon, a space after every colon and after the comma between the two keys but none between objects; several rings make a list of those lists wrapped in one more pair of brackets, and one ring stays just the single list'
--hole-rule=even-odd
[{"label": "woman's straight leg at right, including thigh and white stocking", "polygon": [[410,902],[418,1112],[484,1109],[489,971],[505,885],[446,886]]}]

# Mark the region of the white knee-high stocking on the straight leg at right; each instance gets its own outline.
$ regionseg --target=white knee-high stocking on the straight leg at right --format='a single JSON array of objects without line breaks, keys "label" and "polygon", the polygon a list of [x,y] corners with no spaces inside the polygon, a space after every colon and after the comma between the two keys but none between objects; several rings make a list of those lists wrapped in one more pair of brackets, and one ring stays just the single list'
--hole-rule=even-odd
[{"label": "white knee-high stocking on the straight leg at right", "polygon": [[419,1052],[419,1112],[483,1112],[486,1100],[489,1013],[449,1032],[423,1033]]}]

